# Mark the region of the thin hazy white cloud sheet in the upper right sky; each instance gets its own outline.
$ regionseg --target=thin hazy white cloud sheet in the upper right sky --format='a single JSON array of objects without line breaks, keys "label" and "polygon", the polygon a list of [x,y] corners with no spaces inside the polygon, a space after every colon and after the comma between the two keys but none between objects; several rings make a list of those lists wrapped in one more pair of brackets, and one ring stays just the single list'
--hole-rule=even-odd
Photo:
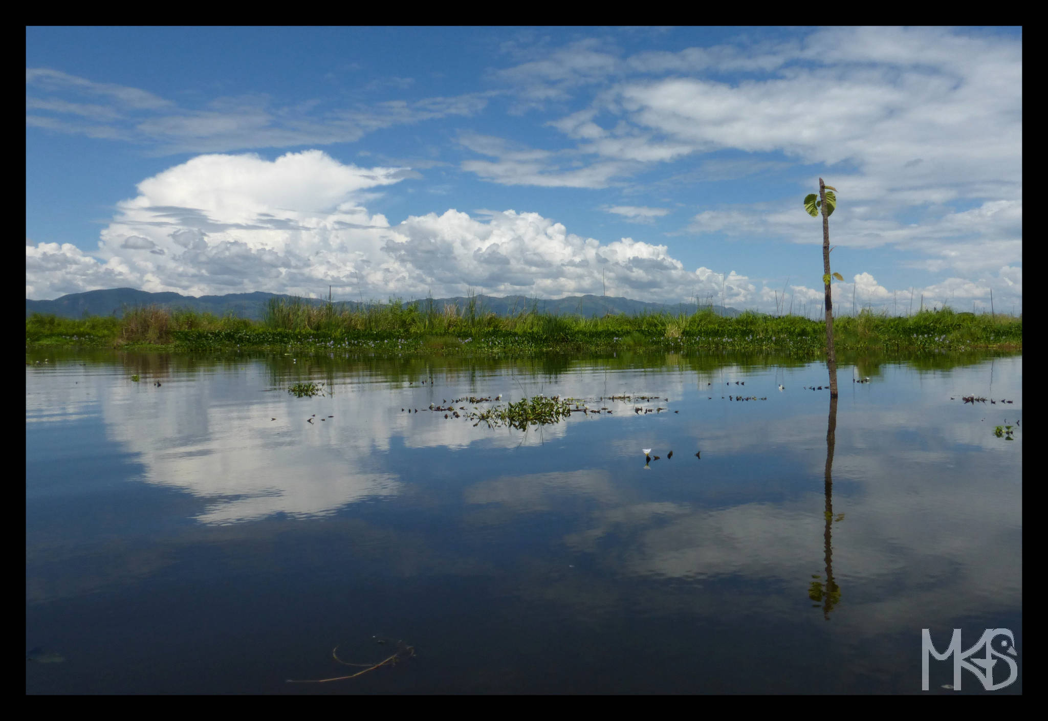
[{"label": "thin hazy white cloud sheet in the upper right sky", "polygon": [[[719,77],[738,72],[761,79]],[[576,140],[575,153],[594,166],[632,163],[617,169],[624,176],[732,149],[806,163],[847,161],[858,173],[835,177],[835,185],[846,184],[853,201],[894,207],[1022,193],[1022,46],[1011,39],[942,28],[828,28],[803,41],[740,40],[625,61],[599,51],[594,40],[499,78],[532,83],[547,99],[602,83],[589,107],[547,125]],[[617,122],[614,130],[604,118]],[[517,184],[541,177],[524,175],[484,177]]]}]

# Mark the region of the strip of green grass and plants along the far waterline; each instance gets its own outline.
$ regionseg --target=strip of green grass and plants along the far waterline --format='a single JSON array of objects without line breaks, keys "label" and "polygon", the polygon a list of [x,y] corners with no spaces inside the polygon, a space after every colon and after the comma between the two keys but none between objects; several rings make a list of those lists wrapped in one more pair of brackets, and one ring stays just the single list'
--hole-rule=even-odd
[{"label": "strip of green grass and plants along the far waterline", "polygon": [[[837,349],[1022,350],[1022,316],[955,312],[945,307],[909,316],[863,311],[834,319]],[[260,322],[211,313],[138,307],[123,318],[81,320],[32,314],[27,346],[107,346],[163,350],[228,348],[342,350],[371,353],[534,353],[717,349],[818,355],[826,352],[825,323],[799,315],[746,312],[583,318],[541,313],[534,307],[508,315],[478,303],[436,310],[425,301],[397,301],[364,309],[274,301]]]}]

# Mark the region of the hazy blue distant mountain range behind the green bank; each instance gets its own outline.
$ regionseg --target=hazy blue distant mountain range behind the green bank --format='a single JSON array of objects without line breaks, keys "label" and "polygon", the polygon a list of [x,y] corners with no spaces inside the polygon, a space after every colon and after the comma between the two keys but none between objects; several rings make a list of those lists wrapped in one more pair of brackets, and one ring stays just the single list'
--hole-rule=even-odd
[{"label": "hazy blue distant mountain range behind the green bank", "polygon": [[[69,293],[53,301],[32,301],[25,299],[25,315],[28,318],[32,313],[53,313],[64,318],[83,318],[87,315],[116,315],[124,314],[125,308],[135,306],[155,305],[161,308],[182,308],[195,310],[197,312],[211,312],[216,315],[233,313],[240,318],[248,318],[254,321],[261,320],[269,299],[278,298],[290,301],[293,296],[282,296],[268,292],[253,293],[228,293],[226,296],[181,296],[176,292],[147,292],[135,290],[134,288],[111,288],[108,290],[88,290],[82,293]],[[307,298],[302,299],[306,303],[321,305],[326,300]],[[506,296],[505,298],[495,298],[492,296],[477,296],[474,299],[478,309],[506,315],[520,312],[522,309],[537,307],[539,312],[546,312],[555,315],[571,314],[586,318],[594,315],[605,315],[607,313],[627,315],[637,315],[640,313],[657,313],[662,311],[694,312],[694,303],[646,303],[645,301],[633,301],[628,298],[611,298],[607,296],[571,296],[555,301],[536,300],[526,296]],[[410,301],[405,301],[409,303]],[[422,299],[422,304],[429,299]],[[458,305],[465,308],[470,299],[456,298],[435,298],[433,304],[440,311],[445,305]],[[374,305],[358,303],[356,301],[336,301],[339,305],[354,309],[362,305]],[[727,307],[714,306],[714,312],[723,315],[738,315],[741,311]]]}]

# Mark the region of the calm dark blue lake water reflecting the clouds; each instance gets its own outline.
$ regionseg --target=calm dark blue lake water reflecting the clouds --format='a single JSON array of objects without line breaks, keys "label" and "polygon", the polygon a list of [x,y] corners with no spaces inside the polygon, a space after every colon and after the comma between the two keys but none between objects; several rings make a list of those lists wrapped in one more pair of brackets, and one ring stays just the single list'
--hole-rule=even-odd
[{"label": "calm dark blue lake water reflecting the clouds", "polygon": [[[1022,668],[1021,355],[846,362],[835,419],[759,356],[26,359],[28,693],[921,693],[921,629]],[[608,411],[429,410],[539,393]]]}]

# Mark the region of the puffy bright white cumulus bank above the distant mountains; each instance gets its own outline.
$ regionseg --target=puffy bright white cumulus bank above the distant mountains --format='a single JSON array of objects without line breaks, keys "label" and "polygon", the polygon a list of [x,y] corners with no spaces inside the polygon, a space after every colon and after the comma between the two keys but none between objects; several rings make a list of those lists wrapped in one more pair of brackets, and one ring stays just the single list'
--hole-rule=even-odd
[{"label": "puffy bright white cumulus bank above the distant mountains", "polygon": [[[383,299],[461,294],[543,298],[601,292],[745,303],[745,276],[686,269],[665,245],[602,242],[538,213],[449,210],[390,225],[361,202],[402,169],[343,165],[321,151],[201,155],[138,183],[117,204],[99,248],[26,246],[26,293],[47,298],[129,285],[191,294],[269,290]],[[662,209],[616,207],[646,217]],[[143,253],[149,250],[149,253]]]}]

